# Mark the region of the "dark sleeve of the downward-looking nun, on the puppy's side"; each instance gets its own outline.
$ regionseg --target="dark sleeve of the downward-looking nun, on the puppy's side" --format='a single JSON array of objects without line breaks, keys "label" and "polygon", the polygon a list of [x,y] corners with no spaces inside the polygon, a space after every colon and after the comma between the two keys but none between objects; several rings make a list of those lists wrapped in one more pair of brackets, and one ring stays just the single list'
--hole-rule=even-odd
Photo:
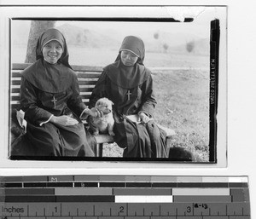
[{"label": "dark sleeve of the downward-looking nun, on the puppy's side", "polygon": [[107,95],[107,80],[108,76],[105,71],[102,72],[100,78],[96,82],[94,89],[90,95],[89,107],[95,107],[96,101],[102,97],[108,97]]}]

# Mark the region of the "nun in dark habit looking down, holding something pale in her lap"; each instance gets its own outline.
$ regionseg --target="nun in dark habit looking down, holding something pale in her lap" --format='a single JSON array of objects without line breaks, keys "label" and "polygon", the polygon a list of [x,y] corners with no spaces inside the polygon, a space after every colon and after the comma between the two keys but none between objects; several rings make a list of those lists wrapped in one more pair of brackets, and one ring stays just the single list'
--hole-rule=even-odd
[{"label": "nun in dark habit looking down, holding something pale in her lap", "polygon": [[125,37],[113,64],[103,69],[90,98],[113,101],[114,141],[124,158],[167,158],[166,132],[154,123],[153,80],[143,65],[145,48],[139,37]]}]

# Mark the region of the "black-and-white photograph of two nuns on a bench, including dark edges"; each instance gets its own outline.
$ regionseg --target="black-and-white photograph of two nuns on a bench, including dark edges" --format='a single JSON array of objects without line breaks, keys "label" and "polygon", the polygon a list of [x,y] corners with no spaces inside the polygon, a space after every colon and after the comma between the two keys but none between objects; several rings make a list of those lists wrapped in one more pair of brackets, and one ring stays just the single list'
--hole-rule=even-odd
[{"label": "black-and-white photograph of two nuns on a bench, including dark edges", "polygon": [[226,9],[184,8],[11,18],[9,159],[218,163]]}]

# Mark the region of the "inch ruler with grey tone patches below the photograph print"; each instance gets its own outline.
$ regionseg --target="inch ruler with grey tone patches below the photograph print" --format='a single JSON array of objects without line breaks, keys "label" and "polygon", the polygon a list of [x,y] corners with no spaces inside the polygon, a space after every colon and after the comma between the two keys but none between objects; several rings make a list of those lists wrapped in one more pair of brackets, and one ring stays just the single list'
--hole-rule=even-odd
[{"label": "inch ruler with grey tone patches below the photograph print", "polygon": [[249,219],[245,176],[0,176],[0,219]]}]

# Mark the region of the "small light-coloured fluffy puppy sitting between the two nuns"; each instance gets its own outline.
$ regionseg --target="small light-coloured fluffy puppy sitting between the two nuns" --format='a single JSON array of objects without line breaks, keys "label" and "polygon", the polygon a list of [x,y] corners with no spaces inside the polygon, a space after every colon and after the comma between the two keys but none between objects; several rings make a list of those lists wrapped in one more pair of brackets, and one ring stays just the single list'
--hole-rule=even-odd
[{"label": "small light-coloured fluffy puppy sitting between the two nuns", "polygon": [[112,105],[113,102],[108,100],[108,98],[103,97],[96,101],[95,107],[103,112],[102,118],[93,118],[89,117],[89,126],[90,131],[93,135],[99,135],[99,133],[102,134],[108,134],[114,136],[113,133],[113,112],[112,112]]}]

